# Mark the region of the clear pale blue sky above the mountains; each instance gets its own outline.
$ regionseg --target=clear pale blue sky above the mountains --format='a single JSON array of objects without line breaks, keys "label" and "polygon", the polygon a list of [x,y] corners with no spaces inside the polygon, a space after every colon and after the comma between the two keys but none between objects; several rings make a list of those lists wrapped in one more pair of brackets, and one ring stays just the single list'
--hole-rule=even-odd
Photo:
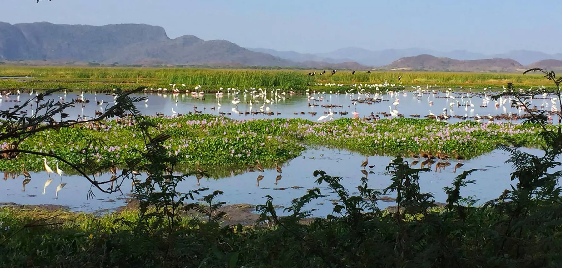
[{"label": "clear pale blue sky above the mountains", "polygon": [[[562,53],[562,1],[2,0],[0,21],[138,23],[170,38],[196,35],[242,47],[329,52],[426,48],[494,54]],[[552,37],[549,37],[552,36]]]}]

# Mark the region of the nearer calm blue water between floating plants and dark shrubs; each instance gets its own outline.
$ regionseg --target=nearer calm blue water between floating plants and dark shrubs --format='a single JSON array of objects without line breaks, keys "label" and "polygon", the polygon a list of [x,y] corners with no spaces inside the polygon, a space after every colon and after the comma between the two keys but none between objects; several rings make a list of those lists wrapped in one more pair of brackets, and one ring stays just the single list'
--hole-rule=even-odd
[{"label": "nearer calm blue water between floating plants and dark shrubs", "polygon": [[[540,153],[539,150],[535,149],[525,149],[525,151],[533,154]],[[482,169],[469,177],[470,179],[476,179],[477,183],[469,184],[468,187],[461,190],[462,196],[474,195],[481,200],[478,204],[482,204],[498,197],[502,191],[510,188],[510,184],[516,183],[510,181],[512,169],[510,165],[504,163],[507,158],[509,158],[507,153],[496,150],[491,154],[466,160],[465,165],[457,169],[456,173],[453,173],[455,162],[451,162],[452,164],[441,172],[434,171],[434,164],[432,172],[421,174],[420,186],[423,192],[434,193],[436,201],[445,202],[447,197],[443,187],[451,186],[456,175],[462,173],[463,170]],[[342,185],[354,193],[357,185],[360,184],[361,177],[364,176],[361,173],[362,168],[360,168],[360,164],[364,160],[364,156],[348,151],[327,148],[311,149],[305,151],[299,158],[283,165],[282,178],[277,181],[277,184],[275,184],[277,171],[269,169],[265,170],[265,173],[247,172],[220,179],[203,178],[199,182],[200,186],[197,186],[197,179],[191,177],[179,184],[178,191],[188,192],[199,187],[209,187],[209,191],[203,192],[203,195],[207,195],[213,190],[222,190],[224,195],[217,200],[225,201],[227,204],[264,204],[264,196],[271,195],[274,197],[274,205],[288,206],[293,198],[304,195],[307,189],[318,187],[315,183],[316,178],[312,175],[314,170],[324,170],[328,175],[341,176],[343,178]],[[412,161],[412,159],[407,160]],[[391,158],[388,156],[369,157],[369,165],[375,165],[372,169],[366,169],[368,172],[373,172],[368,174],[371,188],[383,189],[391,183],[390,177],[384,174],[389,161],[391,161]],[[258,186],[257,177],[259,175],[264,175],[264,178],[261,179]],[[8,178],[6,181],[0,181],[2,185],[0,187],[0,202],[30,205],[54,204],[69,206],[76,211],[92,212],[101,209],[114,209],[124,205],[124,198],[128,198],[126,195],[119,195],[118,193],[108,195],[94,189],[96,197],[93,200],[87,200],[89,182],[78,176],[65,176],[62,177],[62,182],[66,185],[58,192],[58,199],[55,199],[56,188],[61,182],[58,175],[51,175],[53,181],[46,188],[44,195],[42,194],[43,186],[48,175],[44,172],[31,173],[31,177],[31,182],[25,186],[25,192],[22,191],[23,177],[21,175],[15,179]],[[109,177],[110,175],[107,174],[102,175],[98,177],[98,181],[106,181]],[[146,177],[139,176],[139,179],[144,178]],[[128,193],[131,190],[130,187],[130,182],[126,181],[121,186],[121,190]],[[316,209],[314,211],[315,216],[325,216],[332,212],[333,201],[330,201],[330,199],[336,197],[334,193],[330,193],[327,185],[322,184],[319,188],[323,194],[330,195],[330,197],[313,201],[307,208]],[[395,203],[379,201],[380,207],[389,205],[395,205]]]}]

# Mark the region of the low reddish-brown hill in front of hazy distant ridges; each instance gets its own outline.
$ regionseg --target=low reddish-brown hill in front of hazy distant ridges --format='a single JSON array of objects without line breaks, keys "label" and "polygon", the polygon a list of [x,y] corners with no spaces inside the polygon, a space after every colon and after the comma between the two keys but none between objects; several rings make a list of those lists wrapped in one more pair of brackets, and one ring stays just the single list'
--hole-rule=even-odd
[{"label": "low reddish-brown hill in front of hazy distant ridges", "polygon": [[414,57],[400,58],[387,66],[385,70],[423,70],[423,71],[470,71],[470,72],[487,72],[487,71],[518,71],[523,69],[523,65],[513,59],[475,59],[463,61],[459,59],[451,59],[445,57],[435,57],[428,54],[422,54]]}]

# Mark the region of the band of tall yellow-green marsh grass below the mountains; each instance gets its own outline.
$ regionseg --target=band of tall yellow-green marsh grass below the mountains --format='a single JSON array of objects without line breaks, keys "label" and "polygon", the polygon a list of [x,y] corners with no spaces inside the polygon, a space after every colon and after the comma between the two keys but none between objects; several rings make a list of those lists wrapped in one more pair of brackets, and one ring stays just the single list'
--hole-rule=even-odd
[{"label": "band of tall yellow-green marsh grass below the mountains", "polygon": [[[0,76],[30,76],[29,79],[2,79],[0,89],[68,89],[107,90],[119,87],[124,90],[137,87],[169,87],[169,84],[185,84],[189,89],[195,85],[203,90],[217,87],[289,87],[305,89],[314,84],[389,84],[437,85],[439,87],[463,87],[481,90],[490,86],[501,88],[507,82],[529,88],[545,85],[540,75],[511,73],[456,73],[456,72],[356,72],[338,71],[330,75],[309,76],[309,72],[295,70],[216,70],[188,68],[95,68],[95,67],[21,67],[0,66]],[[398,81],[398,77],[401,80]],[[318,86],[316,86],[318,87]]]}]

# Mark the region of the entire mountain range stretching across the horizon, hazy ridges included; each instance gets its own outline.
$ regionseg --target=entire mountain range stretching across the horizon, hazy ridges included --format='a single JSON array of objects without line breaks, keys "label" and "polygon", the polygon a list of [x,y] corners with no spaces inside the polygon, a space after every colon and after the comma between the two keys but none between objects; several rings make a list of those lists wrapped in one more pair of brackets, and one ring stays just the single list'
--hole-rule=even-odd
[{"label": "entire mountain range stretching across the horizon, hazy ridges included", "polygon": [[562,53],[515,50],[484,55],[466,50],[349,47],[327,53],[279,52],[242,48],[227,40],[193,35],[170,39],[164,28],[146,24],[105,26],[56,25],[49,22],[0,22],[0,61],[81,61],[120,64],[189,64],[279,66],[368,70],[518,71],[532,67],[562,68]]}]

